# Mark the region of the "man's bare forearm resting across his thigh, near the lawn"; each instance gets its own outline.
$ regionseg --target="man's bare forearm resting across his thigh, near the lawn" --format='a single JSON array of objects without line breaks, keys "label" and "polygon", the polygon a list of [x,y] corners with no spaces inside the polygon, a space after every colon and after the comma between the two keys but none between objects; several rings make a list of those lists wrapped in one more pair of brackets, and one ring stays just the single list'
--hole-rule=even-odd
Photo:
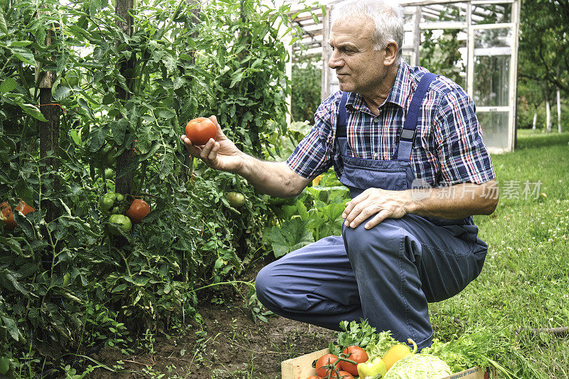
[{"label": "man's bare forearm resting across his thigh, near the lawn", "polygon": [[408,213],[437,218],[464,218],[489,215],[498,204],[496,181],[461,183],[445,188],[407,190]]}]

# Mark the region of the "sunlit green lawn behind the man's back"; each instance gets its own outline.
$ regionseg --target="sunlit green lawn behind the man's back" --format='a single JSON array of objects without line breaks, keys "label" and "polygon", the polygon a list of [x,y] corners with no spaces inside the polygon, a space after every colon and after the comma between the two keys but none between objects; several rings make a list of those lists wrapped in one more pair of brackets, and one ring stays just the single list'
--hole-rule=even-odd
[{"label": "sunlit green lawn behind the man's back", "polygon": [[[435,336],[457,333],[445,317],[505,329],[543,378],[569,378],[567,336],[514,331],[569,326],[569,133],[519,131],[516,151],[492,162],[499,205],[474,218],[489,245],[484,269],[456,297],[432,304]],[[515,367],[515,357],[500,358],[522,378],[535,378]]]}]

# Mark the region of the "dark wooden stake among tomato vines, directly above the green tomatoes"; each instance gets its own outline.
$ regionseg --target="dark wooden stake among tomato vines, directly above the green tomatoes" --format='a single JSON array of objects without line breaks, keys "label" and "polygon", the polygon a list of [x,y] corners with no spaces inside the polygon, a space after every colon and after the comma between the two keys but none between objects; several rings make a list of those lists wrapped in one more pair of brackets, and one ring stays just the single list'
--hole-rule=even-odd
[{"label": "dark wooden stake among tomato vines, directly above the green tomatoes", "polygon": [[[134,8],[134,0],[116,0],[115,14],[117,14],[117,16],[121,16],[125,20],[125,21],[119,21],[117,19],[116,23],[117,23],[117,26],[119,28],[121,28],[122,31],[125,34],[127,34],[128,36],[132,36],[133,20],[132,20],[132,16],[129,15],[129,11],[133,8]],[[117,42],[117,46],[118,45],[119,45],[119,42]],[[128,75],[127,72],[129,70],[131,72],[133,72],[131,69],[134,68],[134,59],[135,58],[136,58],[136,54],[132,54],[132,56],[129,60],[122,60],[121,62],[119,62],[119,72],[121,73],[122,76],[124,76],[124,78],[126,78],[127,88],[129,88],[129,89],[132,89],[132,83],[133,83],[134,79],[131,78],[132,75]],[[125,91],[124,88],[122,88],[117,83],[117,85],[115,85],[115,92],[117,93],[117,99],[122,101],[122,103],[124,104],[124,102],[126,102],[126,100],[128,99],[128,96],[129,96],[127,91]],[[119,114],[117,116],[117,119],[120,119],[121,117],[122,117],[122,115]],[[127,132],[127,134],[124,137],[125,141],[129,141],[129,135],[128,134],[129,134],[129,132]],[[120,156],[117,159],[116,191],[118,193],[127,194],[127,193],[132,192],[132,186],[133,186],[132,178],[133,178],[134,172],[130,171],[129,174],[126,174],[124,176],[120,176],[120,173],[122,171],[124,171],[124,168],[130,163],[130,161],[132,161],[132,159],[134,157],[133,148],[134,148],[134,142],[132,142],[131,146],[128,146],[127,149],[124,149],[124,151],[122,151],[122,153],[120,154]]]}]

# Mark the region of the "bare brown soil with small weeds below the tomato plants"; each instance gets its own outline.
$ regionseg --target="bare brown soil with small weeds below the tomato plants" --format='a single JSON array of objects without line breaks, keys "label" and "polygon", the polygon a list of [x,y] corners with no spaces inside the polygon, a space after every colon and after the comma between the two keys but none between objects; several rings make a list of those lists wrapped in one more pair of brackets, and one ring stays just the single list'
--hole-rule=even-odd
[{"label": "bare brown soil with small weeds below the tomato plants", "polygon": [[[254,278],[256,269],[243,279]],[[97,368],[88,378],[280,379],[282,361],[336,340],[334,331],[276,315],[255,322],[233,287],[224,291],[221,304],[211,299],[203,297],[196,307],[203,319],[192,321],[184,335],[156,336],[154,353],[126,356],[107,346],[92,354],[117,372]]]}]

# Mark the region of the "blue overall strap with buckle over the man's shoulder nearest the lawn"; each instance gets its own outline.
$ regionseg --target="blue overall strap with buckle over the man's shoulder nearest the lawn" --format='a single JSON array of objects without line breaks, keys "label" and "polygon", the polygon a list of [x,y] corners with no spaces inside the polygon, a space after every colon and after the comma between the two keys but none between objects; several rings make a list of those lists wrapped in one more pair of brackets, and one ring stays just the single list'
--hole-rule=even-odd
[{"label": "blue overall strap with buckle over the man's shoulder nearest the lawn", "polygon": [[399,145],[395,149],[394,156],[397,159],[411,159],[411,151],[413,149],[413,142],[415,142],[415,134],[417,133],[417,119],[421,112],[422,100],[425,98],[425,94],[429,89],[429,86],[433,80],[437,78],[437,75],[433,73],[426,73],[422,75],[417,89],[413,94],[411,99],[411,105],[405,116],[405,123],[403,124],[403,129],[399,136]]}]

